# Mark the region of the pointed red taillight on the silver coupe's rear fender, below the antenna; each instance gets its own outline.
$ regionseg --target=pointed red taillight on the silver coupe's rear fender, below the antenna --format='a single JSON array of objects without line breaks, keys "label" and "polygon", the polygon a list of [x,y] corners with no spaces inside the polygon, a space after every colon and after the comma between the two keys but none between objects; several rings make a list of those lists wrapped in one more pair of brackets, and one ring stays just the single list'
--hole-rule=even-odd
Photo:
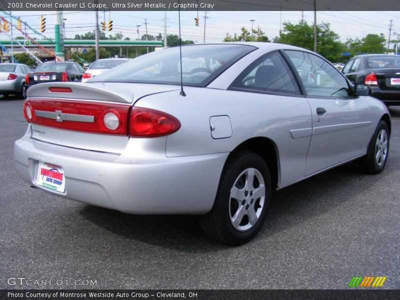
[{"label": "pointed red taillight on the silver coupe's rear fender, below the antenna", "polygon": [[179,128],[179,120],[168,113],[143,107],[133,107],[130,111],[130,136],[162,136],[171,134],[177,131]]}]

